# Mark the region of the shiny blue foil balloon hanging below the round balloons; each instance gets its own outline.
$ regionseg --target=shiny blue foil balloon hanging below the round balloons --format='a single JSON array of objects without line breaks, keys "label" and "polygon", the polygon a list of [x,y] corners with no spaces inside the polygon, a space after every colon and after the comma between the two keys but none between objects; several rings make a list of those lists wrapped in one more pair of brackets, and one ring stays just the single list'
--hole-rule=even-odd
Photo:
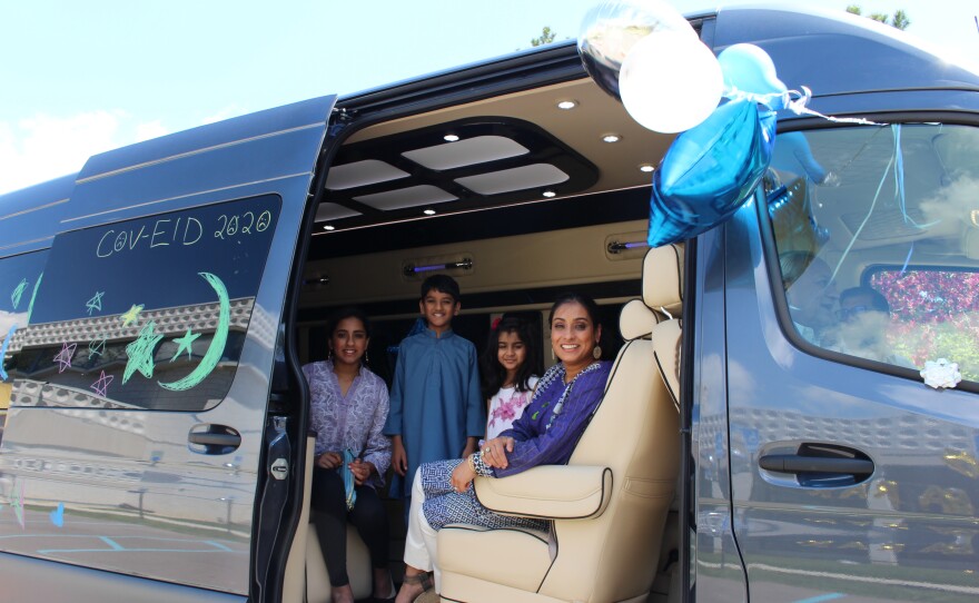
[{"label": "shiny blue foil balloon hanging below the round balloons", "polygon": [[758,103],[722,105],[678,136],[653,175],[651,247],[710,230],[752,195],[772,159],[775,113]]}]

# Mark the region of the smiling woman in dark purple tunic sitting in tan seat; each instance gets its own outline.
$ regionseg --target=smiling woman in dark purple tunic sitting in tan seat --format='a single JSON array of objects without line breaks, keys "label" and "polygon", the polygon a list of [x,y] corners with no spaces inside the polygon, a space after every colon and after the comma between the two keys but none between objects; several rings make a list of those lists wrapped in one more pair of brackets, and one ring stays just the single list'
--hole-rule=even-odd
[{"label": "smiling woman in dark purple tunic sitting in tan seat", "polygon": [[[605,391],[611,363],[601,362],[599,307],[583,295],[565,294],[551,308],[551,347],[560,362],[541,380],[531,404],[513,427],[464,459],[418,468],[413,485],[405,580],[397,603],[414,601],[432,586],[436,532],[451,523],[490,528],[546,530],[547,522],[498,515],[476,501],[476,475],[504,477],[537,465],[567,463],[589,416]],[[436,581],[438,574],[436,572]]]}]

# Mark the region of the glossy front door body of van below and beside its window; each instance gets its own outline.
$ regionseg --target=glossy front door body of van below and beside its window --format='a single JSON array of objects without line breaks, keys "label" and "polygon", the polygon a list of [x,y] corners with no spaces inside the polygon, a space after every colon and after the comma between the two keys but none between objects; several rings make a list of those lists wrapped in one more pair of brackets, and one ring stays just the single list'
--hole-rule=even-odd
[{"label": "glossy front door body of van below and beside its window", "polygon": [[[979,442],[975,394],[800,349],[777,318],[758,205],[725,233],[726,456],[752,594],[975,601],[979,473],[955,461]],[[859,451],[874,472],[852,485],[802,484],[759,466],[802,444]],[[943,495],[965,500],[937,505]]]}]

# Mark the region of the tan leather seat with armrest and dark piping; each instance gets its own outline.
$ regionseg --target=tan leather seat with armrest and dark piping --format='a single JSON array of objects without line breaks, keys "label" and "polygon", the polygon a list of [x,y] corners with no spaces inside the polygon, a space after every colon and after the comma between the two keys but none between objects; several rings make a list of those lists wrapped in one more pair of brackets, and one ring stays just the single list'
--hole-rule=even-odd
[{"label": "tan leather seat with armrest and dark piping", "polygon": [[568,465],[476,480],[484,505],[552,518],[553,533],[446,526],[444,600],[646,600],[680,462],[676,401],[661,370],[679,393],[682,258],[679,246],[646,254],[643,299],[622,309],[626,344]]}]

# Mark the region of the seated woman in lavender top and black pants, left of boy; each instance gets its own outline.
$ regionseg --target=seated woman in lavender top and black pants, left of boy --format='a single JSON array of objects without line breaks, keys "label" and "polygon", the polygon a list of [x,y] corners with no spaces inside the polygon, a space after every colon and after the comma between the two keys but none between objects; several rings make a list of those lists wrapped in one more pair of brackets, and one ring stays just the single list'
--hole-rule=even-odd
[{"label": "seated woman in lavender top and black pants, left of boy", "polygon": [[[370,323],[362,310],[338,310],[329,318],[327,333],[329,357],[303,367],[316,431],[312,501],[316,534],[326,557],[334,602],[354,601],[347,577],[347,521],[357,527],[370,551],[374,596],[389,599],[394,595],[387,567],[389,530],[375,491],[384,485],[384,473],[390,465],[390,441],[383,434],[387,387],[363,364]],[[349,461],[345,461],[345,454]]]}]

